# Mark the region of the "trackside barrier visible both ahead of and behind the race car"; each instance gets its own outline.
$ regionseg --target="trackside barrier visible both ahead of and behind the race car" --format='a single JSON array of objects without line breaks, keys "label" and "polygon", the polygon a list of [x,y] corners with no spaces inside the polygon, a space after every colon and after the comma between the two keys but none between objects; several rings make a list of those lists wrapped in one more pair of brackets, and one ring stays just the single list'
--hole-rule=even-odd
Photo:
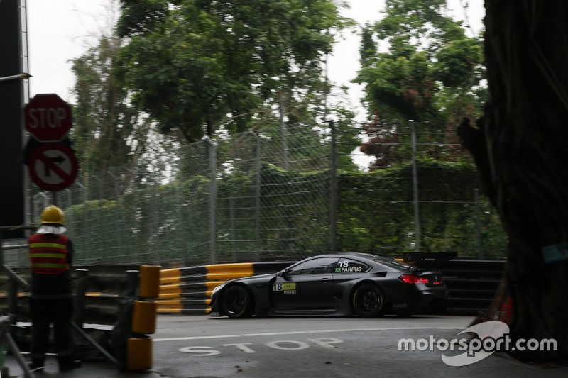
[{"label": "trackside barrier visible both ahead of and behind the race car", "polygon": [[[294,262],[202,265],[162,270],[158,313],[209,313],[211,292],[229,279],[275,273]],[[439,268],[449,289],[447,313],[487,311],[505,269],[502,260],[454,259]]]}]

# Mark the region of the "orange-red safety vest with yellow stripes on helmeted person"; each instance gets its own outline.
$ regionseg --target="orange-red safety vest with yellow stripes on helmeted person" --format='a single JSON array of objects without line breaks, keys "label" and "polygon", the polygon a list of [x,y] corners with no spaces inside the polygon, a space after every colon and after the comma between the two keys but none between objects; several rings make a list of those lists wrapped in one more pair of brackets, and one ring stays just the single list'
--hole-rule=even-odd
[{"label": "orange-red safety vest with yellow stripes on helmeted person", "polygon": [[64,235],[36,234],[30,237],[30,262],[34,273],[61,274],[67,262],[69,238]]}]

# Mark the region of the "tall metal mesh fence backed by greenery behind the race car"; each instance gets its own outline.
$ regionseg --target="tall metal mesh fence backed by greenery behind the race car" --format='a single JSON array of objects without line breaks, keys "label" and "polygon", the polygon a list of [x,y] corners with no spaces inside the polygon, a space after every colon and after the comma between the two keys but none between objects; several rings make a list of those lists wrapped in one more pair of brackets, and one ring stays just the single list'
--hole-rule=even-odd
[{"label": "tall metal mesh fence backed by greenery behind the race car", "polygon": [[[80,175],[55,201],[75,264],[191,266],[340,251],[503,257],[498,217],[453,135],[427,123],[219,135],[170,145],[136,169]],[[29,197],[38,223],[53,194]]]}]

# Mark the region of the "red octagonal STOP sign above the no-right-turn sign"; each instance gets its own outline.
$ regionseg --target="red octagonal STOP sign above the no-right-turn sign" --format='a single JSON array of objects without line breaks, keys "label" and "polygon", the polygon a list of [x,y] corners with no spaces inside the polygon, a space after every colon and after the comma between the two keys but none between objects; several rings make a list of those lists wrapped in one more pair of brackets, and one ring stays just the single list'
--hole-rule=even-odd
[{"label": "red octagonal STOP sign above the no-right-turn sign", "polygon": [[36,94],[23,108],[23,121],[40,142],[57,142],[73,126],[71,106],[57,94]]}]

